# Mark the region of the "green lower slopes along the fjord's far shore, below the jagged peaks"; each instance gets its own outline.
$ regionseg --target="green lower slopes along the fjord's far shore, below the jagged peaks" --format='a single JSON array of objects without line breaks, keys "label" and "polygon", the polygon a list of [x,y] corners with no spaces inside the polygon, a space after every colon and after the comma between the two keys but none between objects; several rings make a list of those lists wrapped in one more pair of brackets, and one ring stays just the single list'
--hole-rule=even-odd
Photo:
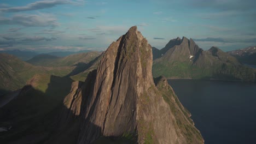
[{"label": "green lower slopes along the fjord's far shore, below the jagged peaks", "polygon": [[154,62],[154,77],[164,75],[168,79],[221,79],[253,81],[254,70],[243,65],[213,63],[200,66],[192,62]]}]

